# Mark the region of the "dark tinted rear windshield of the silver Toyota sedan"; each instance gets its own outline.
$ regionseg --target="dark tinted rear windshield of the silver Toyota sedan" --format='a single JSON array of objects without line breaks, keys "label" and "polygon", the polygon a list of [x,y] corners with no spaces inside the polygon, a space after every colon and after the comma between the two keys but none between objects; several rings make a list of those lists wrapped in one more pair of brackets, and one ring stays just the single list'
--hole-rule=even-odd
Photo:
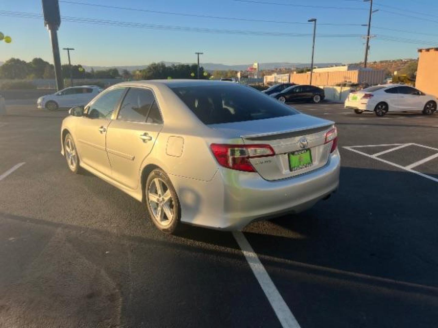
[{"label": "dark tinted rear windshield of the silver Toyota sedan", "polygon": [[298,113],[266,94],[236,84],[170,88],[204,124],[272,119]]}]

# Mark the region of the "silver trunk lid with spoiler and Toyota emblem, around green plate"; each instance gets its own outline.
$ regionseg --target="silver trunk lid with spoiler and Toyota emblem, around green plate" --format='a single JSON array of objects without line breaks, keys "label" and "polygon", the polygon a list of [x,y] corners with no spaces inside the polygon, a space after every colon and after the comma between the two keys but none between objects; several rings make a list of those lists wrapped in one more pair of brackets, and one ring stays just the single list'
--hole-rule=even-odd
[{"label": "silver trunk lid with spoiler and Toyota emblem, around green plate", "polygon": [[[276,155],[251,158],[250,161],[262,178],[279,180],[316,170],[327,163],[332,143],[325,144],[325,134],[333,125],[334,122],[325,119],[297,114],[274,119],[213,124],[209,127],[231,140],[241,137],[247,145],[270,145]],[[307,143],[304,148],[303,143]],[[291,171],[289,154],[302,149],[310,150],[312,164]]]}]

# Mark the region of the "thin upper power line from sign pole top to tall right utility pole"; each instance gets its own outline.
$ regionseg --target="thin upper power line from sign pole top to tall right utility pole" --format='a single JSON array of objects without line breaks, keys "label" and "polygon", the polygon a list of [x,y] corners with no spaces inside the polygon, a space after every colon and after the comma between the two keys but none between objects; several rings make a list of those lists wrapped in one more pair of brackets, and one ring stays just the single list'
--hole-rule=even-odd
[{"label": "thin upper power line from sign pole top to tall right utility pole", "polygon": [[[223,20],[232,20],[232,21],[257,21],[257,22],[263,22],[263,23],[280,23],[280,24],[302,24],[302,25],[310,24],[308,22],[273,21],[273,20],[255,19],[255,18],[224,17],[224,16],[210,16],[210,15],[202,15],[202,14],[176,13],[176,12],[172,12],[172,11],[149,10],[149,9],[141,9],[141,8],[133,8],[133,7],[109,6],[109,5],[103,5],[103,4],[85,3],[85,2],[67,1],[67,0],[65,0],[65,1],[60,0],[60,2],[68,3],[68,4],[75,4],[75,5],[82,5],[82,6],[91,6],[91,7],[100,7],[100,8],[118,9],[118,10],[141,11],[141,12],[152,13],[152,14],[176,15],[176,16],[186,16],[186,17],[201,17],[201,18],[223,19]],[[361,26],[362,24],[321,23],[321,25]]]}]

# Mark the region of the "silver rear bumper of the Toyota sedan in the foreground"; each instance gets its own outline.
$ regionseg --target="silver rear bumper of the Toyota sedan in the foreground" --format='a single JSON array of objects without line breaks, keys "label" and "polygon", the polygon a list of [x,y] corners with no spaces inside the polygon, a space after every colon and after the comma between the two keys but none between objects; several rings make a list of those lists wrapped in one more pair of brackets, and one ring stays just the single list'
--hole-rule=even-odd
[{"label": "silver rear bumper of the Toyota sedan in the foreground", "polygon": [[220,168],[211,181],[170,176],[181,205],[181,220],[203,227],[240,230],[251,221],[299,213],[330,195],[339,185],[336,150],[324,167],[284,180]]}]

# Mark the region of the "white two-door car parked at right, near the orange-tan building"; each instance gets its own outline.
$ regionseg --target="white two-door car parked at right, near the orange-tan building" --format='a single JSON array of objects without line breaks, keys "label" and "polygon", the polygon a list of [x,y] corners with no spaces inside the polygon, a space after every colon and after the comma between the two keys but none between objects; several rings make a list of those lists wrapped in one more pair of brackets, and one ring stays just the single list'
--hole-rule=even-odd
[{"label": "white two-door car parked at right, near the orange-tan building", "polygon": [[356,114],[374,112],[383,116],[387,112],[423,112],[431,115],[437,110],[437,98],[414,87],[400,84],[385,84],[351,92],[345,108]]}]

